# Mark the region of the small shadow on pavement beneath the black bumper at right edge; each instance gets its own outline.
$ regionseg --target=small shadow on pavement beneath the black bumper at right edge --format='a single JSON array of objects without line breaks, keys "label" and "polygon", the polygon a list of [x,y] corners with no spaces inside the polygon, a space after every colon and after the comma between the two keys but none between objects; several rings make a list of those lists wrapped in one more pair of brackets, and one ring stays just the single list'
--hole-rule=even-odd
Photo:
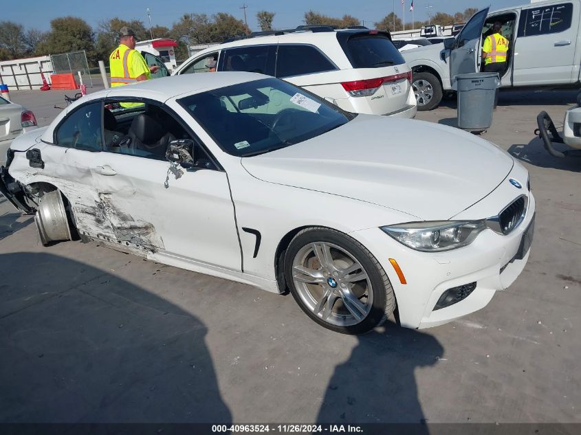
[{"label": "small shadow on pavement beneath the black bumper at right edge", "polygon": [[[553,144],[558,150],[571,149],[567,145]],[[560,170],[569,170],[571,172],[581,172],[581,157],[569,156],[560,159],[550,155],[542,140],[535,137],[528,144],[514,144],[508,148],[508,153],[516,159],[525,161],[528,164],[539,166],[540,168],[553,168]]]}]

